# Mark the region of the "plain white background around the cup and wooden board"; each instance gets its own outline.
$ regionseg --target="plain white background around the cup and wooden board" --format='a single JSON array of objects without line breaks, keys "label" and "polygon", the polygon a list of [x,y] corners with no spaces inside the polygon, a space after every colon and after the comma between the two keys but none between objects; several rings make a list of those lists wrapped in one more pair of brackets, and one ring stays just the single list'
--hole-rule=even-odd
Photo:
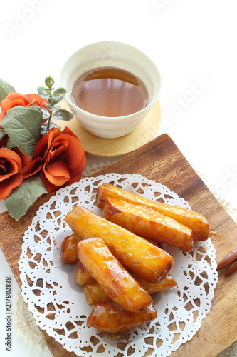
[{"label": "plain white background around the cup and wooden board", "polygon": [[[65,59],[81,46],[137,46],[162,75],[159,134],[167,132],[237,208],[236,7],[235,0],[1,0],[0,78],[22,94],[36,93],[46,76],[58,79]],[[5,277],[12,273],[2,256],[0,268],[4,301]],[[17,291],[14,282],[13,297]],[[5,351],[3,309],[1,304],[1,356],[47,356],[16,333],[11,353]]]}]

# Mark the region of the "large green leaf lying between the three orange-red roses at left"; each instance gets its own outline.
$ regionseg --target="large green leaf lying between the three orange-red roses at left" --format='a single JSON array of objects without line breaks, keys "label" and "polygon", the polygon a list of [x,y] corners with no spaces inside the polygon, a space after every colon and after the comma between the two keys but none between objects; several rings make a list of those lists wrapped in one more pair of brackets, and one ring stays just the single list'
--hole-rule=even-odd
[{"label": "large green leaf lying between the three orange-red roses at left", "polygon": [[1,125],[15,146],[28,155],[33,154],[36,143],[41,139],[42,112],[38,106],[15,106],[9,109]]}]

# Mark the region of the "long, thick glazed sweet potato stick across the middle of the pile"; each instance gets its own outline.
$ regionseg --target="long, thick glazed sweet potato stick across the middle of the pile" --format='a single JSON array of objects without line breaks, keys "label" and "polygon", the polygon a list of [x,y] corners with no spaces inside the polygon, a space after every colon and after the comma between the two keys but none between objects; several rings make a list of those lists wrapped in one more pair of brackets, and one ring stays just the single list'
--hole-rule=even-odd
[{"label": "long, thick glazed sweet potato stick across the middle of the pile", "polygon": [[173,258],[166,251],[83,206],[73,208],[65,221],[80,239],[102,238],[127,270],[149,283],[162,281],[173,266]]}]

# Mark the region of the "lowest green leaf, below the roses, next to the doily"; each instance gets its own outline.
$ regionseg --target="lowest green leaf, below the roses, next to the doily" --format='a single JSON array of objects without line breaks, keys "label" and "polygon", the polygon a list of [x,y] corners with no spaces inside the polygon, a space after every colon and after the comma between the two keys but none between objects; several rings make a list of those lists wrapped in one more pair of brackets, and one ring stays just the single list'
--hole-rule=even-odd
[{"label": "lowest green leaf, below the roses, next to the doily", "polygon": [[20,186],[14,188],[4,200],[7,211],[16,221],[21,218],[36,199],[46,193],[47,189],[41,177],[31,176],[23,180]]}]

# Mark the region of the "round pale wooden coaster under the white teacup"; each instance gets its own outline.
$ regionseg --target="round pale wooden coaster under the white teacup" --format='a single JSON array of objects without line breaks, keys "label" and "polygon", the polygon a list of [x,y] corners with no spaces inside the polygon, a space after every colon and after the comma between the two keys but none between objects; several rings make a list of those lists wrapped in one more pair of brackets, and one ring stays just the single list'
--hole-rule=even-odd
[{"label": "round pale wooden coaster under the white teacup", "polygon": [[[62,108],[70,111],[65,100],[63,100],[60,105]],[[115,157],[130,154],[132,151],[135,151],[150,141],[157,133],[161,116],[161,107],[159,101],[157,101],[137,128],[131,131],[131,133],[115,139],[104,139],[90,134],[89,131],[80,125],[75,116],[70,121],[54,120],[54,122],[60,126],[61,129],[68,126],[73,133],[78,136],[86,153],[93,156]]]}]

